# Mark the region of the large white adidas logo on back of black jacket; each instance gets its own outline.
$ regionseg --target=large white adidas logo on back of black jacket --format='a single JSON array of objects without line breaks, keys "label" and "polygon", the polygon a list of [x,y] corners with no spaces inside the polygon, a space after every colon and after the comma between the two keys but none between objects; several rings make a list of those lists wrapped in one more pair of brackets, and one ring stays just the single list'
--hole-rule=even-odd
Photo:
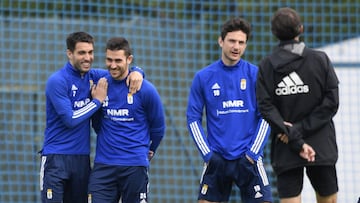
[{"label": "large white adidas logo on back of black jacket", "polygon": [[309,91],[309,86],[304,84],[296,72],[292,72],[288,76],[285,76],[278,84],[278,88],[275,89],[275,94],[278,96],[302,93],[306,94]]}]

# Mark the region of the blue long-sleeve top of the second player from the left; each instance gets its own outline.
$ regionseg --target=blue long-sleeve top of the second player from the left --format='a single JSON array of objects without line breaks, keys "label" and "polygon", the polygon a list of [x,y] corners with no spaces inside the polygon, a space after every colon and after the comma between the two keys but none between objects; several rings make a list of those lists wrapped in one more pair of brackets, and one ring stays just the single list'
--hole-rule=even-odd
[{"label": "blue long-sleeve top of the second player from the left", "polygon": [[97,132],[95,163],[148,166],[148,152],[156,151],[165,133],[165,115],[156,88],[143,80],[136,94],[128,94],[125,80],[107,76],[108,96],[93,119]]}]

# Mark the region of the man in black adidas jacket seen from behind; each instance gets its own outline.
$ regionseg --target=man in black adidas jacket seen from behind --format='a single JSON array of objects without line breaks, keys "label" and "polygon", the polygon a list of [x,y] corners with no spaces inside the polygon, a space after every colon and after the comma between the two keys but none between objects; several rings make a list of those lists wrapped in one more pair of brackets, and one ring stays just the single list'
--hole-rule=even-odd
[{"label": "man in black adidas jacket seen from behind", "polygon": [[303,25],[291,8],[278,9],[271,31],[280,41],[259,65],[256,96],[272,128],[271,162],[282,203],[300,203],[304,168],[318,203],[337,200],[338,148],[333,117],[338,78],[324,52],[305,46]]}]

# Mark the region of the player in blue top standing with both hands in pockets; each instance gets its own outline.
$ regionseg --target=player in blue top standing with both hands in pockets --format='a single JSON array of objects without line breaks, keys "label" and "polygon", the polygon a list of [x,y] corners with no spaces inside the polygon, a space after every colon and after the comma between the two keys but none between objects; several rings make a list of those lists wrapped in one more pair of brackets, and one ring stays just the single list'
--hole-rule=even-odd
[{"label": "player in blue top standing with both hands in pockets", "polygon": [[[187,124],[205,162],[199,203],[228,201],[233,183],[243,202],[272,201],[262,163],[270,128],[255,98],[258,69],[241,59],[250,31],[242,18],[225,22],[218,38],[221,59],[198,71],[191,85]],[[202,127],[204,108],[207,134]]]}]

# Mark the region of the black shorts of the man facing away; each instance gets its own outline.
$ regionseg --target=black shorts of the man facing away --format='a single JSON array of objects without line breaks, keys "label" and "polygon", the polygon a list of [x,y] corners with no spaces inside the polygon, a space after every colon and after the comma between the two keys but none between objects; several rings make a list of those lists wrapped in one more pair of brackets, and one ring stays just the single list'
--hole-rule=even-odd
[{"label": "black shorts of the man facing away", "polygon": [[[306,166],[305,168],[312,187],[320,196],[329,196],[339,190],[335,166]],[[304,167],[279,174],[277,176],[279,197],[298,196],[302,191],[303,181]]]}]

